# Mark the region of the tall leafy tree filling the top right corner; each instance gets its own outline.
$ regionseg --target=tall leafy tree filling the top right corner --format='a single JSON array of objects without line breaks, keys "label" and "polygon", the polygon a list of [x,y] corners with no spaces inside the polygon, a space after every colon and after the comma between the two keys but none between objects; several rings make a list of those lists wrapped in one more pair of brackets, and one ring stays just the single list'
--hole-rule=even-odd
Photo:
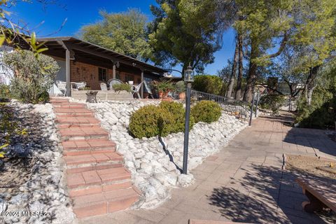
[{"label": "tall leafy tree filling the top right corner", "polygon": [[292,97],[295,83],[304,84],[304,97],[311,104],[312,93],[325,64],[335,61],[336,3],[332,0],[295,1],[288,41],[281,58],[274,60],[279,78],[288,83]]}]

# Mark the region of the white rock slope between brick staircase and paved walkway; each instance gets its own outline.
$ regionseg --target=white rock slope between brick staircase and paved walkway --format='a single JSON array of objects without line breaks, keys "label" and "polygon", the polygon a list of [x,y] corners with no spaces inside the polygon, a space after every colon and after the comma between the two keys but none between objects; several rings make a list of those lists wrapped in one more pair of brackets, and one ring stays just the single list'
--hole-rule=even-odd
[{"label": "white rock slope between brick staircase and paved walkway", "polygon": [[132,172],[132,181],[143,193],[134,208],[153,208],[165,202],[172,188],[193,184],[193,169],[228,144],[246,127],[246,122],[223,112],[211,124],[197,123],[189,135],[188,174],[181,174],[183,165],[183,132],[167,137],[137,139],[128,131],[130,116],[141,106],[160,102],[99,102],[87,104],[95,112],[102,127],[109,131],[117,151],[124,157],[125,167]]}]

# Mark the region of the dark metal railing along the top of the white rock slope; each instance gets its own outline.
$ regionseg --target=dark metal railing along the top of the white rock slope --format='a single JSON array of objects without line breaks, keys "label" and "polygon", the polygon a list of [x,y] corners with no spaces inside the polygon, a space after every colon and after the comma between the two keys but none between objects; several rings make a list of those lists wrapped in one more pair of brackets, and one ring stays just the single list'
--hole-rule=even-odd
[{"label": "dark metal railing along the top of the white rock slope", "polygon": [[[186,94],[184,92],[171,92],[169,97],[174,100],[184,100]],[[251,106],[243,101],[238,101],[235,99],[228,99],[226,97],[218,96],[215,94],[209,94],[206,92],[199,92],[196,90],[191,90],[191,103],[199,102],[202,100],[211,100],[217,102],[221,105],[224,111],[231,113],[241,119],[246,119],[249,116],[249,111]]]}]

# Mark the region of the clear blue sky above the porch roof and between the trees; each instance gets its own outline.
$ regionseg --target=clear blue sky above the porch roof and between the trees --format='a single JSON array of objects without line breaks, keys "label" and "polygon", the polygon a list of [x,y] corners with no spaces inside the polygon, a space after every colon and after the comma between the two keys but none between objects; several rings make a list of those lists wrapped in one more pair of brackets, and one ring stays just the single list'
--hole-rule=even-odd
[{"label": "clear blue sky above the porch roof and between the trees", "polygon": [[[139,8],[142,13],[148,16],[149,20],[153,20],[149,6],[155,3],[155,0],[59,0],[59,5],[51,4],[46,6],[46,8],[43,8],[38,3],[19,2],[17,6],[10,8],[10,10],[13,12],[15,22],[20,18],[20,20],[27,23],[29,29],[36,31],[38,37],[76,36],[82,25],[100,20],[99,10],[104,9],[109,13],[117,13],[123,12],[128,8]],[[59,30],[64,20],[66,20],[66,23]],[[224,34],[223,48],[215,53],[215,62],[206,67],[205,73],[216,74],[216,71],[227,64],[228,59],[232,59],[234,50],[234,34],[230,30]],[[179,67],[176,69],[179,69]]]}]

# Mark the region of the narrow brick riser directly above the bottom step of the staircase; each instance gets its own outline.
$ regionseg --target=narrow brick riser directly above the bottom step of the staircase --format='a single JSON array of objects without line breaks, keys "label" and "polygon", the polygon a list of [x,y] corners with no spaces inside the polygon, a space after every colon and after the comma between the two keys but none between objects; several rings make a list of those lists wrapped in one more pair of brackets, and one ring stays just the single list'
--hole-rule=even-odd
[{"label": "narrow brick riser directly above the bottom step of the staircase", "polygon": [[113,190],[123,190],[127,188],[132,188],[132,181],[130,179],[125,179],[116,183],[102,183],[98,185],[82,186],[79,188],[69,189],[69,196],[79,197],[84,195],[94,195],[104,192],[109,192]]}]

